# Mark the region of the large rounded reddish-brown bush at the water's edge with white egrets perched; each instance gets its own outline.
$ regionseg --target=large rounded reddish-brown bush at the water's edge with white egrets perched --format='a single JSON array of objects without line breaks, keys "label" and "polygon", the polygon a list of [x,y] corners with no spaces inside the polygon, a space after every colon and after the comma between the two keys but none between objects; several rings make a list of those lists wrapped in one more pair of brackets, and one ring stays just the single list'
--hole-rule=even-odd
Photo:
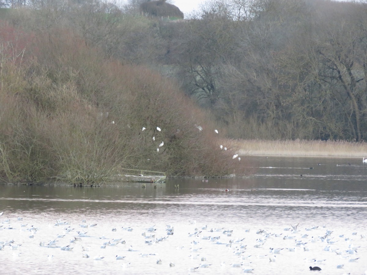
[{"label": "large rounded reddish-brown bush at the water's edge with white egrets perched", "polygon": [[[23,50],[19,36],[8,45]],[[158,73],[104,60],[98,49],[62,30],[27,36],[21,62],[1,53],[3,181],[93,186],[121,168],[168,176],[249,173],[232,159],[236,147],[220,150],[223,136],[209,115]]]}]

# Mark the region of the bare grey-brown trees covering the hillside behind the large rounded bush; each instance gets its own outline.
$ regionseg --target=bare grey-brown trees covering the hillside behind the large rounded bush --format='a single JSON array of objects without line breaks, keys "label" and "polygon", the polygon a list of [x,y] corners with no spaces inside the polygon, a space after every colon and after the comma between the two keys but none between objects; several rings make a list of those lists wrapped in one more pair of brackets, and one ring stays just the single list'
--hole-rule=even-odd
[{"label": "bare grey-brown trees covering the hillside behind the large rounded bush", "polygon": [[367,140],[365,1],[212,0],[183,21],[139,0],[14,1],[0,1],[12,26],[72,30],[106,59],[158,70],[229,137]]}]

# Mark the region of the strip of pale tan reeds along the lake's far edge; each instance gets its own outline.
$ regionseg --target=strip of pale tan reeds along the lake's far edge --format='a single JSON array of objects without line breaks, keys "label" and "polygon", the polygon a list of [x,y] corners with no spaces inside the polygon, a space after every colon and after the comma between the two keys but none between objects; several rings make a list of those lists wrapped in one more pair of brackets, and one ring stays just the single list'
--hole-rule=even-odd
[{"label": "strip of pale tan reeds along the lake's far edge", "polygon": [[367,143],[309,140],[236,140],[241,155],[366,157]]}]

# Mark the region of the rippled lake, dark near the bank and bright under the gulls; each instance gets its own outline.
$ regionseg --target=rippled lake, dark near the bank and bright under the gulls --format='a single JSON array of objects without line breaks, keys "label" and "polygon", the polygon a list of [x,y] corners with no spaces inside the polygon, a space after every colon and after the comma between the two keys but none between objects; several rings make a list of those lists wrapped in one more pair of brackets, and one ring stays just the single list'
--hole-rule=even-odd
[{"label": "rippled lake, dark near the bank and bright under the gulls", "polygon": [[1,267],[9,274],[293,275],[317,266],[317,274],[367,274],[362,159],[241,158],[257,168],[252,177],[167,179],[156,189],[2,185]]}]

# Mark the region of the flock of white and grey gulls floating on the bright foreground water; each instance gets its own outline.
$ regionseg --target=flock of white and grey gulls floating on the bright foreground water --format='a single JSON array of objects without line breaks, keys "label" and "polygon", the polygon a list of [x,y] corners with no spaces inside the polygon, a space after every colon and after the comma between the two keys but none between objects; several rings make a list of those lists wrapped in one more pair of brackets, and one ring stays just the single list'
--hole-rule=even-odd
[{"label": "flock of white and grey gulls floating on the bright foreground water", "polygon": [[[0,212],[0,215],[3,215],[3,212]],[[4,219],[1,220],[0,232],[8,230],[14,233],[11,234],[11,239],[0,238],[0,253],[11,252],[22,256],[22,249],[27,246],[27,251],[32,252],[36,252],[37,249],[49,249],[47,253],[49,259],[59,257],[60,253],[69,252],[80,260],[114,260],[121,263],[119,264],[121,268],[131,266],[139,268],[140,264],[154,263],[157,267],[166,265],[170,270],[166,272],[160,270],[157,274],[178,274],[182,268],[185,269],[185,273],[190,274],[203,269],[226,267],[231,268],[231,271],[219,269],[215,273],[236,274],[237,271],[242,273],[258,271],[258,274],[265,274],[266,265],[274,265],[279,261],[284,264],[295,259],[297,261],[301,259],[303,262],[302,270],[322,271],[326,274],[335,274],[335,270],[340,269],[350,272],[353,271],[353,264],[364,261],[362,255],[359,255],[359,249],[366,246],[365,234],[352,232],[349,235],[335,235],[333,230],[328,230],[325,226],[300,229],[299,224],[295,224],[279,232],[244,229],[239,235],[230,228],[198,226],[195,220],[188,221],[185,227],[179,226],[179,228],[166,224],[136,228],[103,227],[103,229],[101,225],[87,223],[86,220],[81,220],[79,224],[57,220],[47,229],[52,238],[46,239],[43,235],[44,228],[23,223],[22,217],[12,220],[6,216],[6,214],[2,216]],[[183,232],[183,228],[190,232]],[[28,235],[27,242],[21,238],[21,235],[25,234]],[[110,236],[107,236],[108,234]],[[177,235],[179,236],[176,237]],[[24,246],[22,240],[25,242]],[[279,243],[283,246],[273,247]],[[180,252],[177,252],[178,250]],[[322,254],[323,257],[315,258],[314,254]],[[175,255],[180,255],[179,263]],[[218,256],[221,259],[219,261]],[[137,264],[137,258],[146,258],[146,262],[140,260]],[[326,264],[328,261],[339,263],[331,266]],[[269,267],[265,270],[269,270]]]}]

